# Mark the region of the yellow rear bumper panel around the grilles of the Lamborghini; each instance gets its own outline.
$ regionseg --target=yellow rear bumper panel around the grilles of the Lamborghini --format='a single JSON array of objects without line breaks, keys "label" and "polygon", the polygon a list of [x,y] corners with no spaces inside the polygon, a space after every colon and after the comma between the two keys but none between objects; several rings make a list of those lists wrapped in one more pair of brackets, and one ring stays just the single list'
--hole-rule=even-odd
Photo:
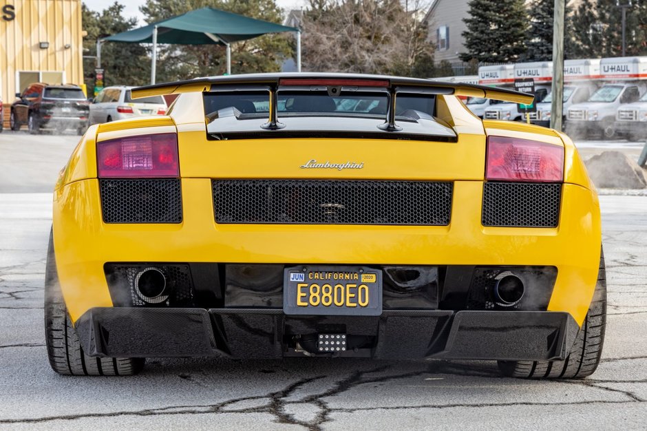
[{"label": "yellow rear bumper panel around the grilles of the Lamborghini", "polygon": [[[582,324],[600,258],[597,196],[564,185],[560,227],[480,226],[482,182],[457,181],[448,227],[222,225],[213,220],[209,178],[182,178],[180,224],[103,224],[98,181],[73,182],[54,195],[59,279],[73,320],[112,306],[105,262],[305,262],[309,264],[509,264],[559,262],[550,311]],[[65,235],[57,235],[65,232]],[[98,241],[98,238],[101,238]],[[282,244],[277,248],[276,244]],[[317,244],[317,246],[312,246]],[[343,244],[343,247],[339,247]],[[572,244],[578,244],[573,253]],[[514,250],[514,253],[510,253]],[[80,285],[82,284],[82,285]]]}]

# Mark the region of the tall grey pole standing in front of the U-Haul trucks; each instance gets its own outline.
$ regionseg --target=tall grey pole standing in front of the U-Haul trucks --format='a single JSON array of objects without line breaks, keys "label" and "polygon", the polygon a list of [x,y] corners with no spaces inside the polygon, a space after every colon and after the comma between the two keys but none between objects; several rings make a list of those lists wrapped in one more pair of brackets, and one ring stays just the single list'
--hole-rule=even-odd
[{"label": "tall grey pole standing in front of the U-Haul trucks", "polygon": [[564,112],[564,8],[566,0],[555,0],[553,21],[553,101],[551,102],[551,128],[562,131]]}]

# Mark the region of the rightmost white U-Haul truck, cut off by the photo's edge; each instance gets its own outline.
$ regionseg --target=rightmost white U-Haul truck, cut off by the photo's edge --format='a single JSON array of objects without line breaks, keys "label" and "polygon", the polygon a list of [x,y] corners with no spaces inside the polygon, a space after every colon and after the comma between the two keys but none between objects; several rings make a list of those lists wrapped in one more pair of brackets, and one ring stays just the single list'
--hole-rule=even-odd
[{"label": "rightmost white U-Haul truck, cut off by the photo's edge", "polygon": [[613,57],[600,61],[604,85],[585,103],[569,107],[566,132],[574,136],[602,133],[613,138],[622,130],[618,109],[639,101],[647,91],[647,56]]}]

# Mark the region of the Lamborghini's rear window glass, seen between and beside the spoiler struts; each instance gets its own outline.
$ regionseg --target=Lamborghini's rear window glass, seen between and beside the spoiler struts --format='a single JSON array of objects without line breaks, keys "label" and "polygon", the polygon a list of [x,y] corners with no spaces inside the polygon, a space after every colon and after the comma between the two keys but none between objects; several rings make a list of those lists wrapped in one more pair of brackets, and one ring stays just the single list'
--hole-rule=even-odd
[{"label": "Lamborghini's rear window glass, seen between and beside the spoiler struts", "polygon": [[[415,110],[433,115],[434,96],[399,94],[396,99],[396,115]],[[329,96],[319,91],[277,92],[279,116],[385,116],[389,95],[385,92],[347,92]],[[270,111],[268,92],[218,92],[204,95],[206,115],[220,109],[234,107],[242,114],[266,114]]]}]

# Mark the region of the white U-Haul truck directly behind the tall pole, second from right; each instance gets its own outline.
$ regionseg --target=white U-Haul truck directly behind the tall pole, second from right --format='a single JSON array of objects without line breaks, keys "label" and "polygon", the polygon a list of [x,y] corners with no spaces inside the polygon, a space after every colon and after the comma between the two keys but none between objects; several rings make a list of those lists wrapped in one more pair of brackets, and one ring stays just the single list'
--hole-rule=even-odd
[{"label": "white U-Haul truck directly behind the tall pole, second from right", "polygon": [[[566,120],[566,112],[575,103],[588,101],[591,94],[597,90],[600,83],[600,59],[577,59],[564,61],[564,95],[563,120]],[[544,101],[537,104],[537,114],[532,123],[544,127],[551,124],[552,94],[548,94]],[[532,118],[532,114],[531,114]]]}]

